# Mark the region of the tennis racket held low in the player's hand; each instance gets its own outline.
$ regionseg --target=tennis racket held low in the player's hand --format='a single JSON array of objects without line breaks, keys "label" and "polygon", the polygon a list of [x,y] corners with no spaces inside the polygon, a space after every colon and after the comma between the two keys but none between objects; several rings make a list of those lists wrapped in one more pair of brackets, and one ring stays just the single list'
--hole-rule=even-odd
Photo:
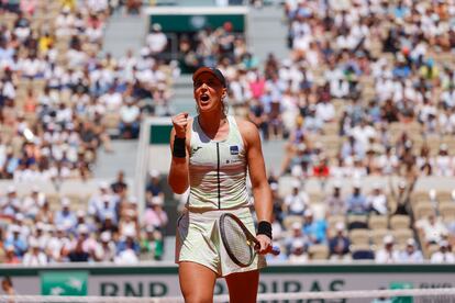
[{"label": "tennis racket held low in the player's hand", "polygon": [[[242,221],[231,213],[220,216],[220,234],[229,257],[240,267],[249,266],[259,247],[259,242],[245,227]],[[273,247],[270,254],[279,255],[279,248]]]}]

